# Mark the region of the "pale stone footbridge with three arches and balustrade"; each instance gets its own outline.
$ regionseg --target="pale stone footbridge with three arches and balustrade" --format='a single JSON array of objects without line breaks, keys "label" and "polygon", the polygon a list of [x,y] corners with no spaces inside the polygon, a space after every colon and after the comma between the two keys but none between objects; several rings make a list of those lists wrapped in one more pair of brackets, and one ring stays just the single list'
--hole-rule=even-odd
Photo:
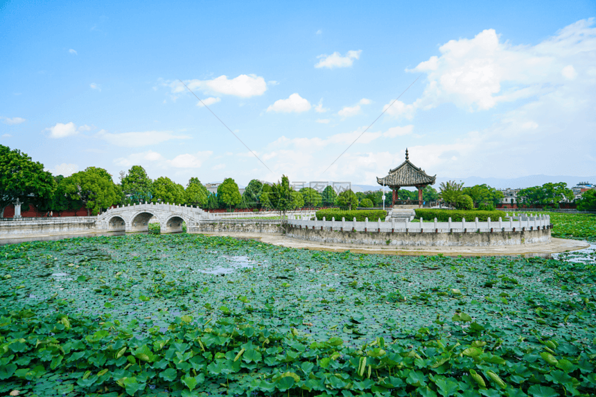
[{"label": "pale stone footbridge with three arches and balustrade", "polygon": [[125,231],[134,233],[148,231],[149,221],[155,216],[161,226],[161,233],[182,231],[182,222],[186,222],[186,231],[191,233],[203,220],[208,220],[209,213],[200,208],[175,204],[134,204],[117,206],[98,215],[95,223],[98,231]]}]

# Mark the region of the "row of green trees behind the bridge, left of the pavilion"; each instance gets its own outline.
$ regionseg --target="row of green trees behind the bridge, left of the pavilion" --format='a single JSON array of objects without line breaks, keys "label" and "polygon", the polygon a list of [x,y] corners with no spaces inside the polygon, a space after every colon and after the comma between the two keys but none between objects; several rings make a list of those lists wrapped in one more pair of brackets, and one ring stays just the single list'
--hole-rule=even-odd
[{"label": "row of green trees behind the bridge, left of the pavilion", "polygon": [[249,182],[243,194],[232,178],[226,178],[217,193],[211,193],[196,177],[186,187],[168,177],[152,180],[142,166],[132,166],[128,173],[121,171],[115,183],[107,170],[87,167],[69,177],[52,175],[44,165],[33,161],[20,150],[0,145],[0,218],[4,209],[17,200],[24,211],[29,205],[37,211],[62,213],[87,209],[87,215],[97,215],[114,205],[143,202],[193,205],[203,209],[290,209],[319,206],[341,206],[352,209],[358,199],[352,191],[336,194],[331,186],[322,193],[313,188],[294,191],[288,177],[278,184],[263,184],[257,179]]}]

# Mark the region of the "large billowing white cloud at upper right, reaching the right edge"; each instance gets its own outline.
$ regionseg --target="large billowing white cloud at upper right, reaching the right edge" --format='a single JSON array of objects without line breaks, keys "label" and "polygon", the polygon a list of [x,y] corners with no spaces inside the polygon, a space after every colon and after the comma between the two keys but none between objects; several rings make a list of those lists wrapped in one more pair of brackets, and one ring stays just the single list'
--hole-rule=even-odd
[{"label": "large billowing white cloud at upper right, reaching the right edge", "polygon": [[440,56],[406,69],[426,73],[423,95],[411,105],[396,103],[387,113],[411,117],[416,109],[431,109],[441,103],[482,111],[499,103],[566,90],[592,67],[596,51],[593,23],[592,18],[577,21],[535,46],[514,46],[502,41],[493,29],[483,30],[473,39],[450,40],[439,47]]}]

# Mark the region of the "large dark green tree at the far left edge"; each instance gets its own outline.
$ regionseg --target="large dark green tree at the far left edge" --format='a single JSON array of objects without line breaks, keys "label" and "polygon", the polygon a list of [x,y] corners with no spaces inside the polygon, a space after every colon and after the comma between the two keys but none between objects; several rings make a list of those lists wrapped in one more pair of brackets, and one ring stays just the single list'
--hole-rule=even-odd
[{"label": "large dark green tree at the far left edge", "polygon": [[0,145],[0,218],[13,202],[51,200],[56,182],[44,165],[20,150]]}]

